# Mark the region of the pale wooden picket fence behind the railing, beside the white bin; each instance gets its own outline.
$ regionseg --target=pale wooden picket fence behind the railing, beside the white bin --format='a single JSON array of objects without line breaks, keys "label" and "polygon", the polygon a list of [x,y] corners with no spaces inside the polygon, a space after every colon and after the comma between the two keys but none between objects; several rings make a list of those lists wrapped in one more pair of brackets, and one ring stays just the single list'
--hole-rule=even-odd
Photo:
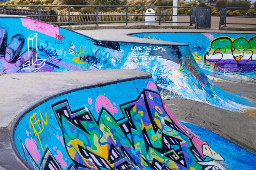
[{"label": "pale wooden picket fence behind the railing, beside the white bin", "polygon": [[[58,10],[58,15],[59,15],[60,11]],[[68,12],[66,12],[66,14],[62,14],[62,15],[67,15]],[[71,15],[78,15],[78,16],[71,16],[70,17],[70,21],[71,22],[88,22],[88,23],[82,23],[82,24],[94,24],[96,23],[96,12],[91,12],[91,13],[77,13],[77,12],[71,12]],[[81,16],[80,16],[80,15]],[[87,15],[87,16],[83,16],[83,15]],[[123,14],[123,16],[106,16],[106,15],[101,15],[101,14]],[[99,18],[98,21],[99,23],[101,23],[101,21],[126,21],[126,16],[125,16],[126,12],[99,12]],[[138,11],[138,12],[128,12],[128,15],[145,15],[145,11]],[[162,15],[172,15],[172,11],[161,11]],[[88,16],[91,15],[91,16]],[[93,16],[92,16],[93,15]],[[156,11],[156,15],[159,15],[159,11]],[[171,21],[172,20],[172,16],[161,16],[162,17],[162,21]],[[68,16],[58,16],[57,19],[58,22],[68,22]],[[145,16],[128,16],[128,21],[145,21]],[[156,21],[159,21],[159,16],[156,16]],[[64,25],[64,24],[60,24],[60,25]]]}]

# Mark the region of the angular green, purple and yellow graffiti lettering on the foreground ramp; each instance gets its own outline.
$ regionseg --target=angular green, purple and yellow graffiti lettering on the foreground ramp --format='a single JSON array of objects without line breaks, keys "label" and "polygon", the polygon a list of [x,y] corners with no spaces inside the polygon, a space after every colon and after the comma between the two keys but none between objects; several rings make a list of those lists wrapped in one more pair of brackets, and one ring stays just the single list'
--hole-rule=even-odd
[{"label": "angular green, purple and yellow graffiti lettering on the foreground ramp", "polygon": [[[149,81],[147,86],[152,84]],[[96,110],[98,118],[87,106],[72,111],[67,99],[51,105],[62,132],[63,147],[72,164],[68,166],[60,151],[54,155],[49,148],[45,149],[40,162],[20,139],[26,162],[36,170],[226,170],[222,163],[224,158],[176,120],[157,91],[144,89],[137,99],[119,105],[118,110],[107,97],[103,100],[99,95],[97,98],[101,100],[95,105],[96,109],[100,108]],[[92,105],[91,100],[88,98],[89,105]],[[99,100],[96,99],[96,103]],[[111,113],[112,109],[116,109],[113,113],[119,115],[118,119]],[[39,123],[39,120],[34,121],[34,124]],[[43,122],[47,125],[47,119]],[[55,144],[49,143],[48,147],[51,145]]]}]

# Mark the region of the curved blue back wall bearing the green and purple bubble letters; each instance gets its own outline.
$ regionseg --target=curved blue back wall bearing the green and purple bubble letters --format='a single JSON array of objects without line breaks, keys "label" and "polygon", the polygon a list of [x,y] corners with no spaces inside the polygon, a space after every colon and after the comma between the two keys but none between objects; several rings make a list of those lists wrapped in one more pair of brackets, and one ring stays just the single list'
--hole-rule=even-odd
[{"label": "curved blue back wall bearing the green and purple bubble letters", "polygon": [[138,33],[131,36],[187,43],[210,76],[256,82],[256,35],[234,33]]}]

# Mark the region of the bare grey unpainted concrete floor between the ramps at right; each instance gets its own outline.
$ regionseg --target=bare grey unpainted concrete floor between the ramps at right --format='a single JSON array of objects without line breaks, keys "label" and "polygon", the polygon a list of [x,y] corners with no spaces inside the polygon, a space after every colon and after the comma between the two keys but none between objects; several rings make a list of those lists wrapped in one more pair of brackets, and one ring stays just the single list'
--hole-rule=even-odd
[{"label": "bare grey unpainted concrete floor between the ramps at right", "polygon": [[[226,92],[256,101],[256,84],[213,82]],[[232,112],[187,99],[164,102],[178,120],[210,130],[256,153],[256,113]]]}]

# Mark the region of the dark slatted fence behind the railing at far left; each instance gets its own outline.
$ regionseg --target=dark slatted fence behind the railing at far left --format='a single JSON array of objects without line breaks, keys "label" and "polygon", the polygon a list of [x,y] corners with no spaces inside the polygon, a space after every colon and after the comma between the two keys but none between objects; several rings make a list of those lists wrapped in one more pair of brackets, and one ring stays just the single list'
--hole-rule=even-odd
[{"label": "dark slatted fence behind the railing at far left", "polygon": [[[4,14],[4,9],[0,8],[0,14]],[[18,9],[18,8],[6,8],[7,15],[37,15],[35,9]],[[57,15],[55,10],[40,10],[40,15]],[[29,17],[29,16],[28,16]],[[38,19],[38,16],[31,16],[30,18]],[[56,22],[56,16],[40,16],[41,21]]]}]

